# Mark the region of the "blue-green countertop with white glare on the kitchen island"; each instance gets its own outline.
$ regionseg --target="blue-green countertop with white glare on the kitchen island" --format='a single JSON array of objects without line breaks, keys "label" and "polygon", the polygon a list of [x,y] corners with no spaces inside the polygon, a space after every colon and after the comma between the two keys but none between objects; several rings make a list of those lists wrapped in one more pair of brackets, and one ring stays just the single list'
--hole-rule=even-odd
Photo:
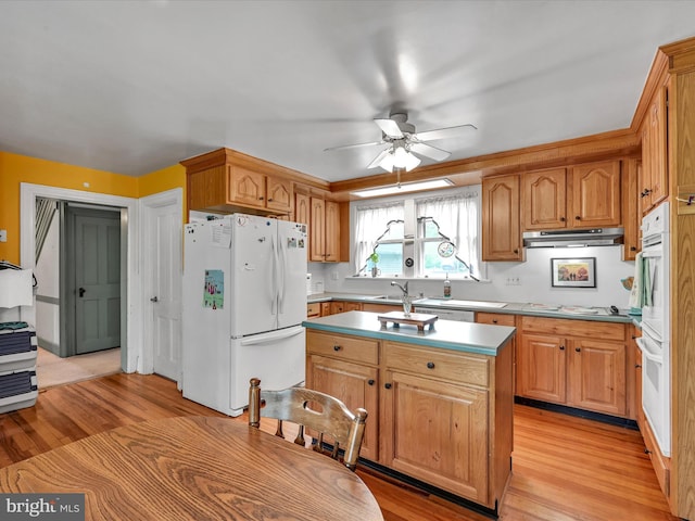
[{"label": "blue-green countertop with white glare on the kitchen island", "polygon": [[392,322],[388,322],[386,329],[381,329],[379,316],[378,313],[348,312],[308,319],[302,322],[302,326],[306,329],[331,333],[391,340],[490,356],[496,356],[516,333],[516,328],[506,326],[453,320],[437,320],[433,329],[426,327],[424,331],[419,331],[412,325],[394,327]]}]

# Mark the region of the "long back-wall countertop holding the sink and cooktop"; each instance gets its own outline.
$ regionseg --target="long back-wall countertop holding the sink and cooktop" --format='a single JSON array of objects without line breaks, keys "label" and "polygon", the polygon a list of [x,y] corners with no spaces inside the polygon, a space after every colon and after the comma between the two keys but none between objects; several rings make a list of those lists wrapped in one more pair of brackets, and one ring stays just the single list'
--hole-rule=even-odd
[{"label": "long back-wall countertop holding the sink and cooktop", "polygon": [[[315,293],[307,296],[307,303],[316,302],[330,302],[330,301],[348,301],[348,302],[362,302],[369,304],[386,304],[392,306],[401,305],[400,296],[390,295],[386,298],[379,298],[377,295],[365,295],[357,293]],[[420,302],[422,301],[422,302]],[[429,301],[425,302],[425,301]],[[437,304],[432,304],[432,301],[437,301]],[[464,302],[464,304],[460,304]],[[497,304],[504,304],[504,307],[496,307]],[[534,317],[546,318],[567,318],[570,320],[594,320],[601,322],[621,322],[621,323],[634,323],[640,326],[642,317],[628,315],[627,310],[621,309],[620,315],[610,314],[574,314],[563,312],[561,309],[540,309],[533,308],[531,303],[519,302],[484,302],[480,300],[476,301],[457,301],[457,300],[433,300],[433,298],[415,298],[413,306],[431,309],[432,314],[437,314],[437,309],[465,309],[470,312],[486,312],[486,313],[501,313],[506,315],[528,315]],[[428,312],[430,313],[430,312]]]}]

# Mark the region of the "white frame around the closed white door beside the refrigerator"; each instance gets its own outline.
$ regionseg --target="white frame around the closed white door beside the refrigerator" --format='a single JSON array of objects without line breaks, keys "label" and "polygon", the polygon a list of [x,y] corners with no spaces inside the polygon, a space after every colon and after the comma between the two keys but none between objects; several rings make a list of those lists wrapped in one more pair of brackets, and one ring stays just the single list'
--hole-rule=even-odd
[{"label": "white frame around the closed white door beside the refrigerator", "polygon": [[[141,293],[141,300],[140,300],[140,306],[141,308],[144,309],[149,309],[149,298],[151,295],[153,295],[153,277],[150,276],[150,274],[156,269],[155,266],[152,266],[152,255],[150,255],[150,252],[148,251],[149,245],[146,244],[147,241],[150,240],[149,238],[149,231],[151,228],[151,219],[152,219],[152,212],[150,212],[152,208],[157,208],[161,206],[168,206],[168,205],[176,205],[176,207],[178,208],[178,213],[181,216],[181,246],[179,249],[179,255],[182,255],[182,247],[184,247],[184,190],[180,188],[173,188],[170,190],[166,190],[164,192],[159,192],[152,195],[148,195],[144,198],[141,198],[140,200],[138,200],[138,205],[139,205],[139,209],[140,209],[140,272],[143,274],[142,277],[142,293]],[[181,267],[184,266],[182,259],[181,259]],[[181,274],[182,276],[182,274]],[[180,298],[179,298],[180,302]],[[147,373],[151,373],[154,372],[154,345],[153,345],[153,331],[152,331],[152,325],[151,323],[144,323],[142,325],[142,339],[143,339],[143,344],[147,346],[146,350],[143,350],[142,352],[142,370]],[[181,360],[179,358],[179,363],[178,363],[178,371],[177,371],[177,384],[180,389],[181,385]]]}]

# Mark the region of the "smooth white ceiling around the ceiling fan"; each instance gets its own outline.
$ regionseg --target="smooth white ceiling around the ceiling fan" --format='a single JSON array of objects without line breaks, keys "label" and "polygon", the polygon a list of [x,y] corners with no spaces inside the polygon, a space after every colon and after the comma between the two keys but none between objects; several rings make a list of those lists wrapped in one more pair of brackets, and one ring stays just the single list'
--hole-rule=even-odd
[{"label": "smooth white ceiling around the ceiling fan", "polygon": [[[452,160],[630,126],[695,1],[0,1],[0,150],[140,176],[220,147],[377,173],[394,105]],[[431,164],[424,161],[422,165]]]}]

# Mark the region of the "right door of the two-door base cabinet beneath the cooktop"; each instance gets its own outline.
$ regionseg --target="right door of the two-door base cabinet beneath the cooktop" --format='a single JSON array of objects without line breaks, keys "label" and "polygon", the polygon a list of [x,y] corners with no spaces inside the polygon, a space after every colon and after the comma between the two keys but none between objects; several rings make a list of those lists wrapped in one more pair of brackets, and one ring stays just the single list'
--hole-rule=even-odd
[{"label": "right door of the two-door base cabinet beneath the cooktop", "polygon": [[624,344],[598,340],[572,340],[569,344],[567,405],[624,416]]}]

